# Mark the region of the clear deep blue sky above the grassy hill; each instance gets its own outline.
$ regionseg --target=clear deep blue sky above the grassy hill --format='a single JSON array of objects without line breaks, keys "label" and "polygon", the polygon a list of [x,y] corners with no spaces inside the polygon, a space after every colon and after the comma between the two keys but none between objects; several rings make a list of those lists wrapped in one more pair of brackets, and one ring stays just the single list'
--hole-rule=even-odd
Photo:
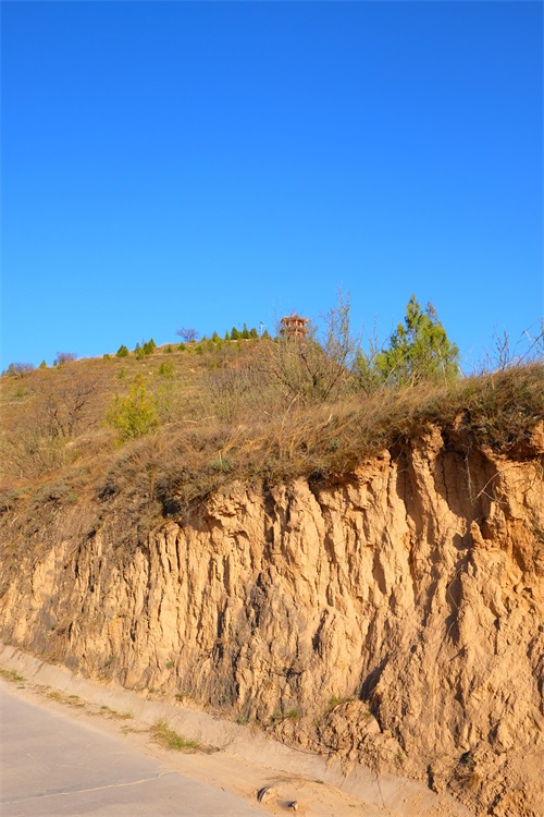
[{"label": "clear deep blue sky above the grassy hill", "polygon": [[543,307],[541,2],[10,2],[2,350],[413,292],[466,368]]}]

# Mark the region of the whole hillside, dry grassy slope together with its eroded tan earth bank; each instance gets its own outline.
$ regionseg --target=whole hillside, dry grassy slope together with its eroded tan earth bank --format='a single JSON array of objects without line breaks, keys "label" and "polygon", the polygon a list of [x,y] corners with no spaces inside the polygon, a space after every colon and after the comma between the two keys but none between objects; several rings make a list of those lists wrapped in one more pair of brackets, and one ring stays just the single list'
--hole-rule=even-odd
[{"label": "whole hillside, dry grassy slope together with its eroded tan earth bank", "polygon": [[543,385],[294,398],[272,341],[2,377],[0,636],[535,817]]}]

